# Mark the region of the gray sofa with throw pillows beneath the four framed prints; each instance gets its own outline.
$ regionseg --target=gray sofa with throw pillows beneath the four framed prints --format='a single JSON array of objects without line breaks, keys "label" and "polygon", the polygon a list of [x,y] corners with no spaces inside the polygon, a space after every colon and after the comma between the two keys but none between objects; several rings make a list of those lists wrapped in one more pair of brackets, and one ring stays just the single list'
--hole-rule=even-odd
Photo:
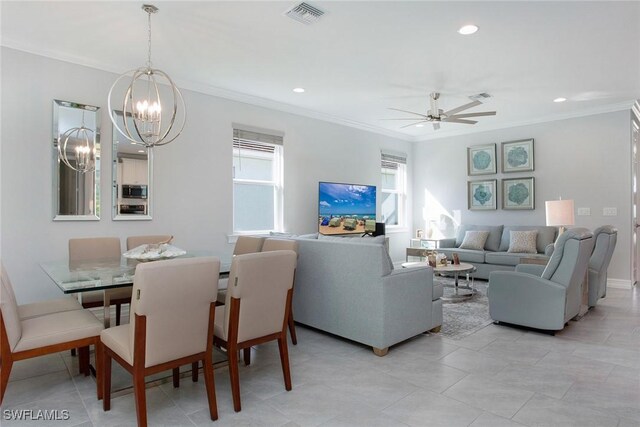
[{"label": "gray sofa with throw pillows beneath the four framed prints", "polygon": [[[538,253],[507,252],[511,230],[536,230],[538,232],[536,239]],[[467,231],[489,232],[484,250],[459,248]],[[492,271],[513,271],[516,265],[520,264],[522,258],[547,259],[553,253],[553,242],[557,233],[556,227],[539,225],[461,225],[455,238],[440,240],[437,251],[446,254],[449,259],[452,258],[454,252],[457,253],[460,261],[473,264],[477,268],[474,274],[476,278],[488,280]]]}]

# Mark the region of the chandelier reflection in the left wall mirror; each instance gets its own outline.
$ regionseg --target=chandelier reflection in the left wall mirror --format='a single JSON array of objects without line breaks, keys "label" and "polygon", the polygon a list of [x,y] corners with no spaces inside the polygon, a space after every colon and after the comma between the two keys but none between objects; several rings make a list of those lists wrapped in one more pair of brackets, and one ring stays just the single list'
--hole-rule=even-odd
[{"label": "chandelier reflection in the left wall mirror", "polygon": [[[67,130],[60,135],[58,142],[58,158],[71,169],[80,173],[92,172],[96,168],[96,140],[93,130],[84,125],[84,111],[82,124]],[[69,159],[73,153],[75,165]]]}]

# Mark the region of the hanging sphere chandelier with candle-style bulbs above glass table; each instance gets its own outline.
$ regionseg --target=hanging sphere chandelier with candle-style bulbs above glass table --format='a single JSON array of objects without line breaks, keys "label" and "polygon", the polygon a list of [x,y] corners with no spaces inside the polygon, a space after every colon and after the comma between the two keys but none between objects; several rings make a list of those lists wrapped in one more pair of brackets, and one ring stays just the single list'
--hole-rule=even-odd
[{"label": "hanging sphere chandelier with candle-style bulbs above glass table", "polygon": [[[171,77],[164,71],[153,68],[151,63],[151,14],[156,13],[158,8],[145,4],[142,5],[142,10],[148,14],[147,63],[144,67],[127,71],[113,83],[109,90],[108,110],[114,127],[127,140],[150,148],[168,144],[182,133],[186,109],[182,94]],[[119,98],[120,103],[113,103],[114,92],[122,89],[121,86],[127,81],[130,84]],[[162,90],[160,85],[166,86],[168,90]],[[161,92],[166,95],[163,99]],[[116,120],[116,112],[112,107],[114,105],[121,106],[124,119],[121,123]],[[167,106],[169,110],[163,110]]]}]

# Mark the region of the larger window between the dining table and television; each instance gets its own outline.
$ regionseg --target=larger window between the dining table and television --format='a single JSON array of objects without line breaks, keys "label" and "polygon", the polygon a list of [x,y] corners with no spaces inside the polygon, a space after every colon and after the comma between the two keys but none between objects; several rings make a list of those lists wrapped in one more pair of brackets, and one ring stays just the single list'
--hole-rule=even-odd
[{"label": "larger window between the dining table and television", "polygon": [[282,230],[282,136],[233,130],[233,232]]}]

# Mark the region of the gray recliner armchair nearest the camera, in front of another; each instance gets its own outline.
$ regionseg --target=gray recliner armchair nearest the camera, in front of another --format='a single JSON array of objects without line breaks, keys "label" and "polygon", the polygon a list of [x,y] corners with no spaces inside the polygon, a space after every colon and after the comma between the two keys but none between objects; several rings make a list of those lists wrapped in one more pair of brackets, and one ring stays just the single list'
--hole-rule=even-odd
[{"label": "gray recliner armchair nearest the camera, in front of another", "polygon": [[489,275],[489,314],[498,322],[559,331],[578,315],[593,234],[573,228],[556,241],[541,275],[494,271]]}]

